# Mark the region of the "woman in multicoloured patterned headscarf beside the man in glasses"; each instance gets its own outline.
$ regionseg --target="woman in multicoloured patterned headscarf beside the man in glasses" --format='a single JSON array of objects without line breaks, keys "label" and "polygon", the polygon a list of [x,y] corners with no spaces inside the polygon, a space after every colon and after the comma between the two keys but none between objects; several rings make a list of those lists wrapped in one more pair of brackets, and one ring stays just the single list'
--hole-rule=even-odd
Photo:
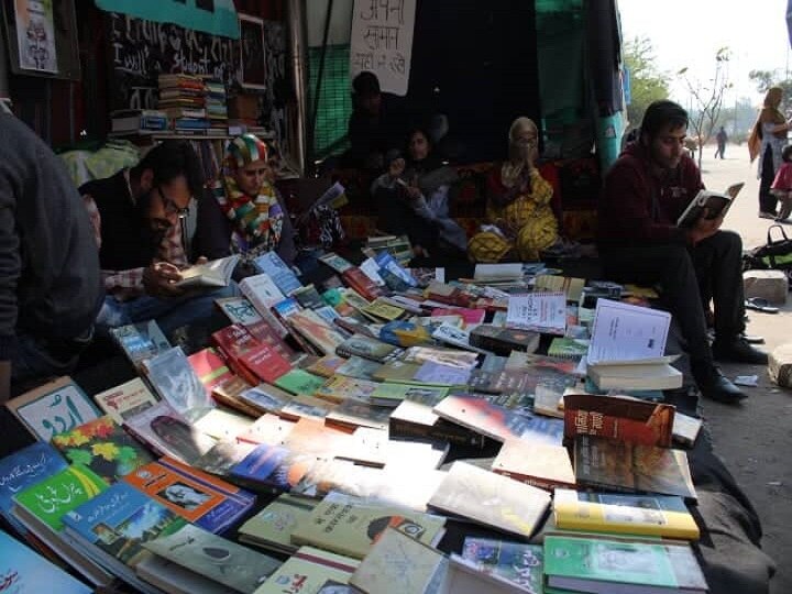
[{"label": "woman in multicoloured patterned headscarf beside the man in glasses", "polygon": [[294,229],[273,185],[263,141],[243,134],[229,142],[222,178],[215,184],[213,195],[226,216],[227,245],[242,255],[242,270],[273,250],[287,264],[294,262]]}]

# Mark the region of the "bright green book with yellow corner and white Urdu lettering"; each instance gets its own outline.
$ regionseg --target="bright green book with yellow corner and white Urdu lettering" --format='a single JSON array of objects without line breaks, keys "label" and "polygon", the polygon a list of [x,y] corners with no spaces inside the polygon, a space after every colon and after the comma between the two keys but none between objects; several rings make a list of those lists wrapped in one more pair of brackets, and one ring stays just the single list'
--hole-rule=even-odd
[{"label": "bright green book with yellow corner and white Urdu lettering", "polygon": [[63,530],[61,518],[108,488],[108,484],[86,466],[73,464],[14,497],[16,505],[55,532]]}]

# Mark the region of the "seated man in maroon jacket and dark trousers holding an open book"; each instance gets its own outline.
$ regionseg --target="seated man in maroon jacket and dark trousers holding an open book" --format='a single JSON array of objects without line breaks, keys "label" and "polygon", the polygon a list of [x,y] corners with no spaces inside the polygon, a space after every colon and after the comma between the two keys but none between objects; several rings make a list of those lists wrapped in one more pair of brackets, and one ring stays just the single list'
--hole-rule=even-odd
[{"label": "seated man in maroon jacket and dark trousers holding an open book", "polygon": [[[629,145],[605,177],[600,202],[600,253],[608,277],[659,283],[678,320],[704,396],[737,403],[746,395],[721,374],[718,361],[767,364],[745,331],[743,242],[721,230],[723,217],[703,216],[689,228],[675,221],[704,188],[684,154],[688,113],[672,101],[649,106],[638,142]],[[715,306],[715,342],[707,341],[704,309]]]}]

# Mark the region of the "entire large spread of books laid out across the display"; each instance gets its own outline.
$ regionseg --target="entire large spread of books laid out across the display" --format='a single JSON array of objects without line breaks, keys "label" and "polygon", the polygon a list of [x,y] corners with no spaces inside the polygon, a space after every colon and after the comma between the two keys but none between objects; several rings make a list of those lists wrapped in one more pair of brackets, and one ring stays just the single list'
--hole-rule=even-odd
[{"label": "entire large spread of books laid out across the display", "polygon": [[[36,443],[0,460],[7,562],[85,583],[40,563],[58,592],[706,592],[682,449],[701,421],[593,373],[664,369],[662,314],[601,298],[587,322],[580,283],[553,275],[528,295],[562,307],[534,310],[510,301],[526,287],[425,284],[388,252],[321,262],[304,286],[258,257],[189,356],[156,322],[119,328],[139,377],[9,400]],[[565,328],[564,356],[510,321]],[[636,328],[657,338],[630,344]]]}]

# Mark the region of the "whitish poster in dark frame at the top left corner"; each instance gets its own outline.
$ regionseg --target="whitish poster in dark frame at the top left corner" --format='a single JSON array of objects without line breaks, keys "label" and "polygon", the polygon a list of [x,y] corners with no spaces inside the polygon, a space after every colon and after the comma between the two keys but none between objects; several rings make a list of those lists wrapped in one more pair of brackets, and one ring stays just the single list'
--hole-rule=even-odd
[{"label": "whitish poster in dark frame at the top left corner", "polygon": [[53,0],[14,0],[20,68],[57,73]]}]

